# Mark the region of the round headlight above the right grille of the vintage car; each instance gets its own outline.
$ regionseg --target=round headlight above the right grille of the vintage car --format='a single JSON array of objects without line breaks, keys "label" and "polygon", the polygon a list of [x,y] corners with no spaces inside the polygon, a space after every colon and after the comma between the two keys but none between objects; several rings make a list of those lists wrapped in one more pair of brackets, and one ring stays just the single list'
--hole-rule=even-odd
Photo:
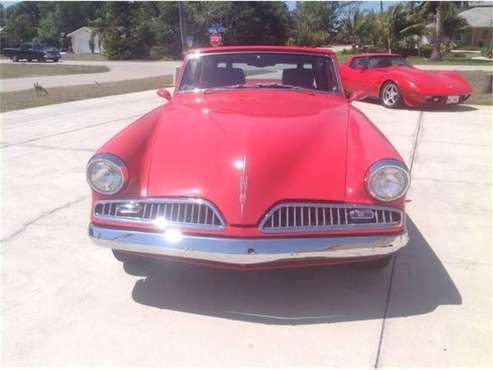
[{"label": "round headlight above the right grille of the vintage car", "polygon": [[368,169],[366,182],[372,197],[389,202],[406,194],[410,178],[402,162],[386,159],[374,163]]}]

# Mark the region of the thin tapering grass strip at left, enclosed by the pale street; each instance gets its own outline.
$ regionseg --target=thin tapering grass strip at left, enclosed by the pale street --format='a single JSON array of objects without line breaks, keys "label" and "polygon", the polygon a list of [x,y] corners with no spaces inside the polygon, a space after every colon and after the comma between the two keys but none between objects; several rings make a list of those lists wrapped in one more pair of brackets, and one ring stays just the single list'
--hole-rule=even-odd
[{"label": "thin tapering grass strip at left, enclosed by the pale street", "polygon": [[106,66],[1,63],[0,79],[108,72]]}]

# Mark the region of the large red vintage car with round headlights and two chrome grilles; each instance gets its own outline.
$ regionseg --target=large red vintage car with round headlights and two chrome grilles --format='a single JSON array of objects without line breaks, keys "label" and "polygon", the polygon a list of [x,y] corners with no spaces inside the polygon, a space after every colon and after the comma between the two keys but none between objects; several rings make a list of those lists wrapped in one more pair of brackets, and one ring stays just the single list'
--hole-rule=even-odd
[{"label": "large red vintage car with round headlights and two chrome grilles", "polygon": [[87,166],[89,235],[118,260],[382,267],[408,242],[408,170],[332,51],[192,50],[158,94]]}]

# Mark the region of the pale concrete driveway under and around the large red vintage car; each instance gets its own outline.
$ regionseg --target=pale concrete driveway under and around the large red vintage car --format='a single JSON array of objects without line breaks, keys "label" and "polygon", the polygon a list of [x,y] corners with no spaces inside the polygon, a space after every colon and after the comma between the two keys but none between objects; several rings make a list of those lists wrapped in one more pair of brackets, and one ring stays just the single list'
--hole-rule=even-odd
[{"label": "pale concrete driveway under and around the large red vintage car", "polygon": [[385,270],[125,271],[86,236],[85,164],[162,103],[0,115],[4,366],[492,365],[492,107],[356,104],[412,168],[411,242]]}]

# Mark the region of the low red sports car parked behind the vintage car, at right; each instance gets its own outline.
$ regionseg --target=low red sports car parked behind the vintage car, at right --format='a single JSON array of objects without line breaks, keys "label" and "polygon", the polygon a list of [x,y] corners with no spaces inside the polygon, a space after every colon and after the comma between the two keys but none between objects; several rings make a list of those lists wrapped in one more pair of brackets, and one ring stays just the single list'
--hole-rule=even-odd
[{"label": "low red sports car parked behind the vintage car, at right", "polygon": [[430,72],[411,66],[399,54],[358,54],[340,66],[344,89],[363,90],[387,108],[460,104],[471,85],[456,72]]}]

